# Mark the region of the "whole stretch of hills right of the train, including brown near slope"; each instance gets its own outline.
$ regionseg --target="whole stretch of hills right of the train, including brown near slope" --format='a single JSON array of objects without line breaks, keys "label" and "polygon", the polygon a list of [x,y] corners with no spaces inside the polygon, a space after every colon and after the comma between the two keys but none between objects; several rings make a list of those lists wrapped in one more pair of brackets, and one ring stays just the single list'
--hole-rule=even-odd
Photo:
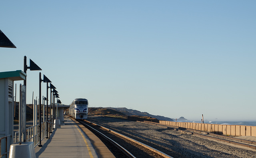
[{"label": "whole stretch of hills right of the train, including brown near slope", "polygon": [[[146,116],[147,118],[156,118],[158,120],[165,120],[165,121],[173,121],[171,118],[167,118],[164,116],[159,115],[151,115],[148,112],[140,112],[138,110],[132,110],[127,108],[89,108],[89,113],[92,115],[106,115],[106,114],[112,114],[112,115],[119,115],[119,116]],[[88,114],[89,114],[88,113]]]}]

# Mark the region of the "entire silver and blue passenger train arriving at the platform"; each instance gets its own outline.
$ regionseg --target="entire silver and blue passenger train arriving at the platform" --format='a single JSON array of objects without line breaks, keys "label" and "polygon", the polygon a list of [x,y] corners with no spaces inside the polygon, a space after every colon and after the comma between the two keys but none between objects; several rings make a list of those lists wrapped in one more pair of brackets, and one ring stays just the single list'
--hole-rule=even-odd
[{"label": "entire silver and blue passenger train arriving at the platform", "polygon": [[84,98],[76,98],[69,107],[69,114],[74,119],[85,120],[88,115],[88,100]]}]

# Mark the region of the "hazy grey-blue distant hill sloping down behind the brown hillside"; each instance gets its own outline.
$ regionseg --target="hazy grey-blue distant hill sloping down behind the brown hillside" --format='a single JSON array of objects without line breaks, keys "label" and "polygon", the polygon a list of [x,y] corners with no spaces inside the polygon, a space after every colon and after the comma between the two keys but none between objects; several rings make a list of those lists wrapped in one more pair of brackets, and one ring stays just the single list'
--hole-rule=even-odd
[{"label": "hazy grey-blue distant hill sloping down behind the brown hillside", "polygon": [[171,118],[168,118],[168,117],[159,116],[159,115],[151,115],[148,112],[140,112],[138,110],[132,110],[132,109],[127,109],[127,108],[112,108],[112,107],[107,107],[107,108],[122,112],[123,114],[126,114],[127,116],[133,116],[133,115],[147,116],[147,117],[156,118],[158,120],[173,121]]}]

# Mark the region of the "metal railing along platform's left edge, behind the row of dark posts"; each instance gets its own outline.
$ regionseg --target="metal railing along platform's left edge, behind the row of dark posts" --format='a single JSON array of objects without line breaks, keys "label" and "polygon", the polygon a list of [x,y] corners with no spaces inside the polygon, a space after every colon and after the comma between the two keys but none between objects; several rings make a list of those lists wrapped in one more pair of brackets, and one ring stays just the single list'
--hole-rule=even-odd
[{"label": "metal railing along platform's left edge, behind the row of dark posts", "polygon": [[[41,140],[43,140],[45,137],[47,137],[48,133],[47,133],[47,124],[52,124],[51,122],[48,121],[44,121],[41,123],[42,126],[42,130],[41,130]],[[50,127],[50,126],[48,126]],[[34,147],[36,147],[39,144],[40,138],[39,138],[39,132],[40,132],[40,128],[39,128],[39,124],[35,125],[35,126],[31,126],[29,128],[26,128],[26,142],[34,142]],[[49,132],[49,130],[48,130]],[[14,142],[18,142],[19,141],[19,132],[15,132],[14,135]]]}]

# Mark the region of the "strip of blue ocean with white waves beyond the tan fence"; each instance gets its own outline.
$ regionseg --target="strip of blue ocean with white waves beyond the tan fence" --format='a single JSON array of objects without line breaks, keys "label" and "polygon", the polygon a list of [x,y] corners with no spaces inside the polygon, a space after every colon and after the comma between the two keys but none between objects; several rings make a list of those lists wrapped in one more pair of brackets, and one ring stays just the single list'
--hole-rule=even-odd
[{"label": "strip of blue ocean with white waves beyond the tan fence", "polygon": [[[201,121],[187,121],[187,122],[195,122],[201,123]],[[256,121],[210,121],[204,120],[205,124],[228,124],[228,125],[245,125],[245,126],[256,126]]]}]

